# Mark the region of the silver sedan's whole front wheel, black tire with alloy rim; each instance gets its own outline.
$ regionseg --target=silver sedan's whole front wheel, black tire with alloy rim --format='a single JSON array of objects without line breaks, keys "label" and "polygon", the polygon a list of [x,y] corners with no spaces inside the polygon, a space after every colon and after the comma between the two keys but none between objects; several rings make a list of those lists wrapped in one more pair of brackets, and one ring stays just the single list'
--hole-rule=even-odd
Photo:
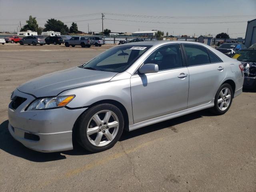
[{"label": "silver sedan's whole front wheel, black tire with alloy rim", "polygon": [[[109,120],[106,120],[108,123],[104,122],[106,116],[110,117],[107,118]],[[98,119],[98,121],[93,119]],[[113,127],[109,128],[111,123],[116,126],[112,125]],[[98,104],[86,110],[79,117],[75,128],[76,138],[83,148],[90,152],[100,152],[112,148],[120,139],[124,130],[124,118],[122,112],[116,106],[112,104]],[[90,128],[89,134],[88,129]]]}]

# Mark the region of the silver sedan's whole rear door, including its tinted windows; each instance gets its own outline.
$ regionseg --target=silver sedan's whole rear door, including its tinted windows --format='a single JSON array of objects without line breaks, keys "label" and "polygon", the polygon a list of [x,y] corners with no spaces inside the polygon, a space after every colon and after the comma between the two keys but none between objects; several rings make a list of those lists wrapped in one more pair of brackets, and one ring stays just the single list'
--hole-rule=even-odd
[{"label": "silver sedan's whole rear door, including its tinted windows", "polygon": [[209,103],[226,76],[224,63],[204,46],[182,46],[189,72],[188,108]]}]

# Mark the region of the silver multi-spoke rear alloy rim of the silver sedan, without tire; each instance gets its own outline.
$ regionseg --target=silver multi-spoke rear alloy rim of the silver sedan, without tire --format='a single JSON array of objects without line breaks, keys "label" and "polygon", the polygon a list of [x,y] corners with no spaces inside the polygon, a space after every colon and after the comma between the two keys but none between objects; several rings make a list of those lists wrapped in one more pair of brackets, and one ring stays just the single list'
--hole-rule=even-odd
[{"label": "silver multi-spoke rear alloy rim of the silver sedan, without tire", "polygon": [[231,101],[231,91],[229,88],[225,87],[220,91],[218,96],[218,107],[221,111],[224,111],[228,108]]}]

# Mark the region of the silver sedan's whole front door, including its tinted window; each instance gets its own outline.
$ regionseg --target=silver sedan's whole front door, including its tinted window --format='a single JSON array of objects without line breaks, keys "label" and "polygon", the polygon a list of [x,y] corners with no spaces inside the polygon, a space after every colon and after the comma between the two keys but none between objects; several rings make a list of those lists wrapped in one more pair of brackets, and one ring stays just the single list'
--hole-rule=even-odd
[{"label": "silver sedan's whole front door, including its tinted window", "polygon": [[188,69],[179,44],[158,48],[144,61],[148,63],[158,64],[159,72],[131,77],[134,123],[187,108]]}]

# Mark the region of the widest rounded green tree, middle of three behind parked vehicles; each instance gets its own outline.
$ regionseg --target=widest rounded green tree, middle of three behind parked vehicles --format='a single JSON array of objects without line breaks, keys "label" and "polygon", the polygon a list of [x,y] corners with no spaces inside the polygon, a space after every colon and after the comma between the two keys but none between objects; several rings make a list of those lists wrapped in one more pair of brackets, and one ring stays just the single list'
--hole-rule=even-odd
[{"label": "widest rounded green tree, middle of three behind parked vehicles", "polygon": [[44,27],[44,31],[60,32],[63,35],[66,35],[69,32],[68,26],[56,19],[48,19],[46,24],[44,24]]}]

